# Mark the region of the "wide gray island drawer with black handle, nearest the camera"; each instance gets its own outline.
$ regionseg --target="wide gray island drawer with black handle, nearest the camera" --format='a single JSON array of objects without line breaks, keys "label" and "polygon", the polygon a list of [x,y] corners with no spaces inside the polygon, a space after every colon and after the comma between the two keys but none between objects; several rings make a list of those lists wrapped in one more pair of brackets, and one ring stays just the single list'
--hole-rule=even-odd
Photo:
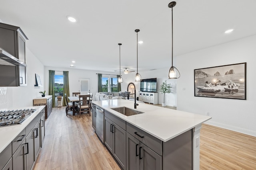
[{"label": "wide gray island drawer with black handle, nearest the camera", "polygon": [[157,139],[156,137],[146,133],[128,122],[126,122],[126,131],[140,142],[144,143],[147,147],[154,150],[157,154],[162,156],[162,141],[160,139]]}]

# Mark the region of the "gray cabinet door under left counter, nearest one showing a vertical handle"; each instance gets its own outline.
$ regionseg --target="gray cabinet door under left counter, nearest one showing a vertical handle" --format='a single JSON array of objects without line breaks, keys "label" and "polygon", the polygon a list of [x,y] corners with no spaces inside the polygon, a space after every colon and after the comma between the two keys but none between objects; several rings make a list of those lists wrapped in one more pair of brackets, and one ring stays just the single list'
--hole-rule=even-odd
[{"label": "gray cabinet door under left counter, nearest one showing a vertical handle", "polygon": [[12,166],[13,170],[26,170],[26,153],[28,150],[26,149],[26,140],[22,142],[20,147],[16,150],[16,152],[12,156]]}]

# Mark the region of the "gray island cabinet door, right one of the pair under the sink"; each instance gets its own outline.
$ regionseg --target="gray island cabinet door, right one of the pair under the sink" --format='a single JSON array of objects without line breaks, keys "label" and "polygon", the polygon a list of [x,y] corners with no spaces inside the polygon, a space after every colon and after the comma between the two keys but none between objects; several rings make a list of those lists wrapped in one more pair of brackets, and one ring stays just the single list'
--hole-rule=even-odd
[{"label": "gray island cabinet door, right one of the pair under the sink", "polygon": [[126,169],[126,131],[114,123],[112,128],[113,136],[113,155],[122,168]]}]

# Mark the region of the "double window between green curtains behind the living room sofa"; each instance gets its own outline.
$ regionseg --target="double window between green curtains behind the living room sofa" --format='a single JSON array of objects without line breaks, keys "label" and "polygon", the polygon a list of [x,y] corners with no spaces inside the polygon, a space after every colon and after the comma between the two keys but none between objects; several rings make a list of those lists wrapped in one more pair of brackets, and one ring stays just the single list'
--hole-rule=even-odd
[{"label": "double window between green curtains behind the living room sofa", "polygon": [[102,92],[118,92],[116,77],[102,77]]}]

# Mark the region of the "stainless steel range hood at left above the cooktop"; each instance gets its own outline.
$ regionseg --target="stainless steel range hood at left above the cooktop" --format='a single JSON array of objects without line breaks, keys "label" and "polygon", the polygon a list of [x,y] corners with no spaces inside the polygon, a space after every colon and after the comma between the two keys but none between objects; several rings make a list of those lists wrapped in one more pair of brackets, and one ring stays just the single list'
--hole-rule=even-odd
[{"label": "stainless steel range hood at left above the cooktop", "polygon": [[26,67],[27,64],[20,61],[16,57],[12,56],[10,53],[4,51],[0,47],[0,65],[10,65],[10,66],[24,66]]}]

